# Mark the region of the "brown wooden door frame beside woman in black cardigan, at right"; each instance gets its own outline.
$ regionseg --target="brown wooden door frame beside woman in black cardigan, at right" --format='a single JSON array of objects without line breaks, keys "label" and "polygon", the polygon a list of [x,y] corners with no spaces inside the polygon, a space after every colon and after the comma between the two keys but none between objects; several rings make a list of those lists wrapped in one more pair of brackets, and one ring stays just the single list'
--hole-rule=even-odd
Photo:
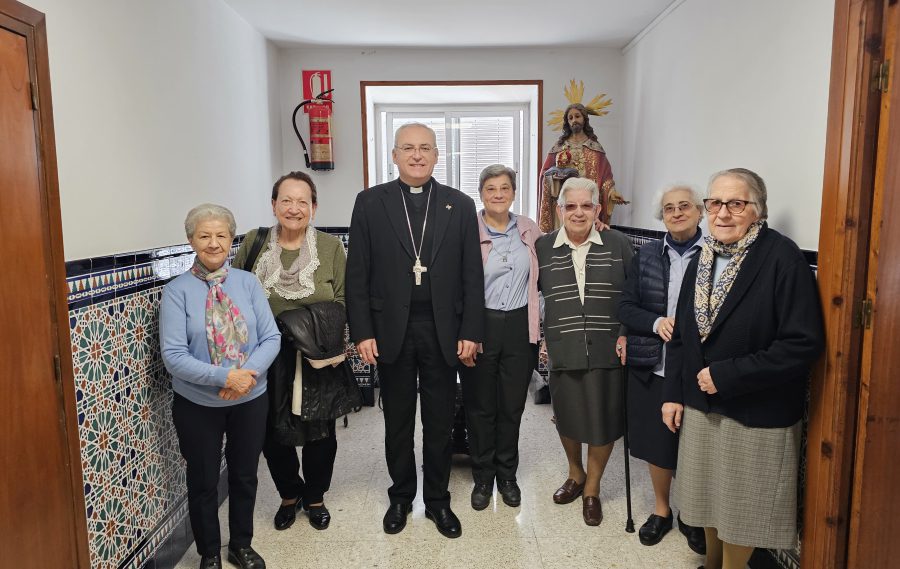
[{"label": "brown wooden door frame beside woman in black cardigan, at right", "polygon": [[836,0],[818,280],[827,332],[810,387],[802,569],[847,566],[884,0]]}]

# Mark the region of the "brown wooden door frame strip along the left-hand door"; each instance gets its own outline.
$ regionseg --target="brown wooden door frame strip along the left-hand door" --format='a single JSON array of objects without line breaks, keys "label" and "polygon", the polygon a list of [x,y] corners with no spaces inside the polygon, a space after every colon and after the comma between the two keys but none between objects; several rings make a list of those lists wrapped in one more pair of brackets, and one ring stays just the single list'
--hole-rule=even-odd
[{"label": "brown wooden door frame strip along the left-hand door", "polygon": [[[56,164],[56,135],[53,126],[53,105],[50,96],[50,64],[47,50],[47,26],[44,14],[15,0],[0,0],[0,25],[25,37],[30,67],[30,80],[37,103],[38,176],[42,190],[42,205],[49,226],[48,251],[50,259],[50,287],[54,307],[51,329],[57,338],[56,355],[59,365],[57,395],[61,412],[59,426],[66,442],[68,470],[72,495],[72,523],[76,544],[74,569],[89,569],[87,518],[85,517],[84,488],[81,473],[81,443],[75,419],[75,375],[72,368],[72,348],[69,338],[68,288],[66,286],[65,254],[63,251],[62,216],[59,202],[59,175]],[[40,507],[40,505],[37,505]],[[39,531],[40,528],[34,528]]]}]

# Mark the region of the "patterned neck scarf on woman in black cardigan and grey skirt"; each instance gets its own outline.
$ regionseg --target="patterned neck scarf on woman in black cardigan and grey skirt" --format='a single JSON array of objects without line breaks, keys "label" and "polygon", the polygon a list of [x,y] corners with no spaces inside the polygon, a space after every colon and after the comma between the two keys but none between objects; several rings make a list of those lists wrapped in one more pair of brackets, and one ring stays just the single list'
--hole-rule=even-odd
[{"label": "patterned neck scarf on woman in black cardigan and grey skirt", "polygon": [[[694,288],[694,316],[697,319],[701,342],[706,341],[706,337],[709,336],[713,322],[719,315],[719,309],[722,308],[725,297],[728,296],[728,291],[731,290],[738,271],[741,270],[741,264],[747,257],[747,249],[756,241],[765,223],[762,220],[753,222],[746,235],[729,245],[717,241],[712,235],[705,237],[703,249],[700,250],[700,262],[697,265],[697,286]],[[713,285],[713,265],[716,255],[731,257],[731,260]]]}]

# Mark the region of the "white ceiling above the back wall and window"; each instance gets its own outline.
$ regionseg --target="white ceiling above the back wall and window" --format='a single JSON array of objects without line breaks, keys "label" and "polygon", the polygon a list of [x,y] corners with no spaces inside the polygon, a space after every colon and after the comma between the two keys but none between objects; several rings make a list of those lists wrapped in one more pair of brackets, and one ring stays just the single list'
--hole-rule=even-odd
[{"label": "white ceiling above the back wall and window", "polygon": [[225,2],[285,47],[441,48],[622,48],[673,4],[673,0],[586,0],[567,5],[547,0]]}]

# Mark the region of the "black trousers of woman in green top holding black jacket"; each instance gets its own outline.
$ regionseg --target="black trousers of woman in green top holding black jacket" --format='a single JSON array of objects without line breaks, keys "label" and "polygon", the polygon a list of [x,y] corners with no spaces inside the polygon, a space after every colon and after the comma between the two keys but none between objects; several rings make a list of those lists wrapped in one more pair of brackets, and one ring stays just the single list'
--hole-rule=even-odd
[{"label": "black trousers of woman in green top holding black jacket", "polygon": [[297,448],[277,442],[271,429],[266,431],[263,455],[282,499],[300,498],[307,506],[325,500],[325,492],[331,487],[334,459],[337,456],[334,423],[331,421],[327,438],[308,441],[303,445],[302,477]]}]

